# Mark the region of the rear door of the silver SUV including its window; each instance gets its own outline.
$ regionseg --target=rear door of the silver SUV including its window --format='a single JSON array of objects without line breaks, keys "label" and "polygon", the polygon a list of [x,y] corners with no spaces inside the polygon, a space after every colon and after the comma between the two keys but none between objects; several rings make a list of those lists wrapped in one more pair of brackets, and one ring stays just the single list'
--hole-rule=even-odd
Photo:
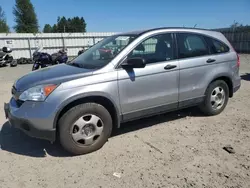
[{"label": "rear door of the silver SUV including its window", "polygon": [[176,36],[180,63],[179,107],[185,107],[202,101],[204,85],[216,60],[203,35],[183,32]]}]

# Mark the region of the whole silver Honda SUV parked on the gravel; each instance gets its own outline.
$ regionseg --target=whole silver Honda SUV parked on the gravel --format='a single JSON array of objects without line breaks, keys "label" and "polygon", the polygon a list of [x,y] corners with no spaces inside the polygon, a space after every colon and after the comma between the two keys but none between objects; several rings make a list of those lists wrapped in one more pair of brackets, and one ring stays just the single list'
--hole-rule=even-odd
[{"label": "whole silver Honda SUV parked on the gravel", "polygon": [[[219,32],[158,28],[107,37],[67,64],[18,79],[5,114],[72,154],[100,149],[112,129],[190,106],[223,111],[240,88],[239,57]],[[58,134],[56,134],[58,133]]]}]

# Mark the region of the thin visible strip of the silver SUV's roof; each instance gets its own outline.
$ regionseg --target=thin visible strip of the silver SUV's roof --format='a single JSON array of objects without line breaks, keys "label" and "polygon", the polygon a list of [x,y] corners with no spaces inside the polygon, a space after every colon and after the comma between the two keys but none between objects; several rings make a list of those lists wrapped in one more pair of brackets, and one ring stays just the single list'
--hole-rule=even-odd
[{"label": "thin visible strip of the silver SUV's roof", "polygon": [[[160,28],[153,28],[153,29],[145,29],[145,30],[137,30],[137,31],[130,31],[130,32],[123,32],[119,33],[120,35],[141,35],[150,31],[157,31],[157,30],[176,30],[176,31],[213,31],[209,29],[202,29],[202,28],[188,28],[188,27],[160,27]],[[216,31],[213,31],[216,32]]]}]

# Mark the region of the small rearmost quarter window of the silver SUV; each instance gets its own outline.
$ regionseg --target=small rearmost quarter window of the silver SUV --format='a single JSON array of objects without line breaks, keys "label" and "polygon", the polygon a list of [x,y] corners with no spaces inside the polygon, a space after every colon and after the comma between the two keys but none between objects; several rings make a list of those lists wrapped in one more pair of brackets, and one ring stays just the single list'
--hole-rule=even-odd
[{"label": "small rearmost quarter window of the silver SUV", "polygon": [[209,44],[210,51],[212,54],[220,54],[220,53],[229,52],[229,47],[226,44],[216,39],[209,38],[209,37],[206,37],[206,40]]}]

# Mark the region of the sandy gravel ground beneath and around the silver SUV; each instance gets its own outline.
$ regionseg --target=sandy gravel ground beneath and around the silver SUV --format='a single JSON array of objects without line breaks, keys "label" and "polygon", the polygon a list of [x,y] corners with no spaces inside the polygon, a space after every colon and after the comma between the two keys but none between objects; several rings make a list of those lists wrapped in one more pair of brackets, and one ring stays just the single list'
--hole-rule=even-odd
[{"label": "sandy gravel ground beneath and around the silver SUV", "polygon": [[192,108],[127,123],[102,149],[77,157],[6,122],[3,102],[29,71],[0,68],[0,187],[250,187],[250,56],[241,55],[242,87],[220,115]]}]

